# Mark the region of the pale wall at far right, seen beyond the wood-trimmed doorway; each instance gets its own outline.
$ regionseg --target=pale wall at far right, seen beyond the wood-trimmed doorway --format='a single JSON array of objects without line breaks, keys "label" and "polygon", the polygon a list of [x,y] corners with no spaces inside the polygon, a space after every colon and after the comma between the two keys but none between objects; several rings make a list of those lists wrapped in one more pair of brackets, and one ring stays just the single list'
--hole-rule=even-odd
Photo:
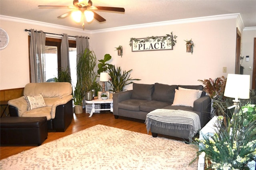
[{"label": "pale wall at far right, seen beyond the wood-trimmed doorway", "polygon": [[[250,89],[252,89],[252,70],[248,70],[248,67],[253,68],[253,45],[254,38],[256,38],[256,27],[254,29],[244,29],[242,35],[242,53],[241,56],[244,57],[244,60],[241,62],[241,65],[244,66],[244,74],[250,75]],[[249,56],[249,61],[246,61],[246,56]]]}]

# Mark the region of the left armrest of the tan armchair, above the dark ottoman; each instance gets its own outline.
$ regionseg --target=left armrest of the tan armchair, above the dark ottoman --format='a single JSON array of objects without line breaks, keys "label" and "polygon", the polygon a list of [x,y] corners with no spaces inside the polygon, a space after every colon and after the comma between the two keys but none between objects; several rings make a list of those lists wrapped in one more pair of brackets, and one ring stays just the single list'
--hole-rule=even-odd
[{"label": "left armrest of the tan armchair, above the dark ottoman", "polygon": [[[18,116],[20,116],[20,117],[22,116],[22,114],[25,111],[28,111],[28,103],[25,100],[24,96],[17,98],[17,99],[9,100],[8,105],[16,107],[18,110]],[[15,109],[11,109],[10,111],[12,111],[12,110],[15,112]],[[10,113],[10,115],[16,115],[16,113],[14,113],[14,114]]]}]

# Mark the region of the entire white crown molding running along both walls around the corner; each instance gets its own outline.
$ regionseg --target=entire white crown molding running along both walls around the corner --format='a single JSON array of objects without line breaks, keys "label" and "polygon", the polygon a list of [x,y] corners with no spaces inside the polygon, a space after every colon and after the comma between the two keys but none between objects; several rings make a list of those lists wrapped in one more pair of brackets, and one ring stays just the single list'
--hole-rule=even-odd
[{"label": "entire white crown molding running along both walls around the corner", "polygon": [[223,14],[223,15],[216,15],[216,16],[205,16],[205,17],[197,17],[197,18],[187,18],[181,20],[171,20],[171,21],[161,21],[161,22],[153,22],[153,23],[144,23],[144,24],[136,24],[136,25],[127,25],[122,27],[113,27],[107,29],[97,29],[97,30],[81,30],[74,27],[66,27],[63,25],[56,25],[52,23],[45,23],[40,21],[34,20],[27,20],[23,18],[15,18],[10,16],[2,16],[0,15],[1,20],[6,21],[15,21],[20,23],[28,23],[32,25],[40,25],[45,27],[51,27],[56,29],[65,29],[69,31],[76,31],[80,33],[88,33],[88,34],[95,34],[95,33],[104,33],[104,32],[111,32],[111,31],[122,31],[127,29],[136,29],[136,28],[146,28],[146,27],[156,27],[156,26],[164,26],[164,25],[174,25],[174,24],[181,24],[181,23],[193,23],[193,22],[202,22],[202,21],[214,21],[214,20],[226,20],[226,19],[238,19],[238,23],[244,28],[244,24],[242,22],[241,16],[239,13],[236,14]]}]

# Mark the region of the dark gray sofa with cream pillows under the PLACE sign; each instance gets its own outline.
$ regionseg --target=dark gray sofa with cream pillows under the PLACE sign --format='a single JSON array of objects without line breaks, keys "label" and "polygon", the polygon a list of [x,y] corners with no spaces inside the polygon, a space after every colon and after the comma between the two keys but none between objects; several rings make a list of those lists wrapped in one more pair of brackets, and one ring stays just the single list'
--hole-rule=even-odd
[{"label": "dark gray sofa with cream pillows under the PLACE sign", "polygon": [[[175,102],[176,106],[172,106],[174,102],[175,89],[185,88],[179,90],[179,92],[184,92],[184,104],[179,104]],[[195,89],[195,90],[188,90]],[[184,91],[187,90],[187,91]],[[187,104],[190,99],[186,98],[186,93],[189,94],[190,91],[200,90],[200,96],[194,102],[192,102],[192,107]],[[200,118],[201,128],[206,125],[210,120],[210,108],[211,100],[209,96],[205,95],[202,91],[203,86],[183,86],[183,85],[167,85],[167,84],[133,84],[133,90],[128,90],[124,92],[118,92],[113,94],[113,114],[116,119],[119,116],[130,117],[135,119],[146,120],[146,115],[155,109],[181,109],[185,111],[192,111],[198,114]],[[177,92],[178,95],[178,92]],[[182,106],[183,105],[183,106]],[[153,131],[154,130],[154,131]],[[169,131],[168,129],[161,129],[156,127],[151,127],[151,132],[157,136],[157,133],[180,137],[188,139],[189,132],[184,131],[180,133],[180,130],[173,129]],[[165,131],[165,132],[163,132]],[[153,134],[153,133],[152,133]],[[154,136],[153,135],[153,136]]]}]

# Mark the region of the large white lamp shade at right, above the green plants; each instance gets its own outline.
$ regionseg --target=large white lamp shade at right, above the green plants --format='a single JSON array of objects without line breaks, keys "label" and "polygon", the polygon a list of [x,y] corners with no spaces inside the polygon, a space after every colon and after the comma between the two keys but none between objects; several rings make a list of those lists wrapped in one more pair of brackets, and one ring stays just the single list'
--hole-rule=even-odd
[{"label": "large white lamp shade at right, above the green plants", "polygon": [[250,75],[228,74],[224,96],[238,99],[250,98]]}]

